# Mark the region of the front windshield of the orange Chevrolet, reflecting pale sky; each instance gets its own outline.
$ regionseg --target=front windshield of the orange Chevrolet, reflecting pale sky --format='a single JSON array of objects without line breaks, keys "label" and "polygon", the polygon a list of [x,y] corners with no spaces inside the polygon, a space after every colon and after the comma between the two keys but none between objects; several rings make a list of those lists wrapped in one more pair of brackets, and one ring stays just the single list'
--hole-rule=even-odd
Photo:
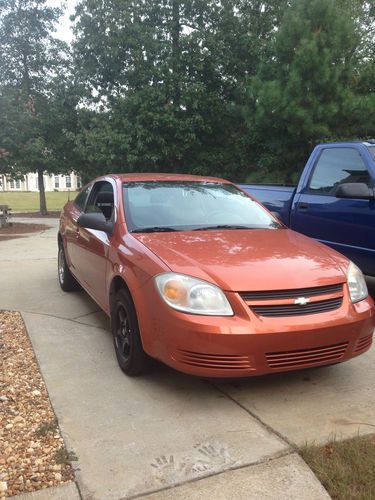
[{"label": "front windshield of the orange Chevrolet, reflecting pale sky", "polygon": [[281,227],[262,206],[232,184],[128,182],[124,184],[124,206],[131,232]]}]

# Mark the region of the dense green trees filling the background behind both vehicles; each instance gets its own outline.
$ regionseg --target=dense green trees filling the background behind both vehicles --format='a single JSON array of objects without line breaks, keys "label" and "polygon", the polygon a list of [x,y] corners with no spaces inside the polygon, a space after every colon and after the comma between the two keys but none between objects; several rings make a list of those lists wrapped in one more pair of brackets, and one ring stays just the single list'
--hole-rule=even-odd
[{"label": "dense green trees filling the background behind both vehicles", "polygon": [[[375,135],[369,0],[0,0],[0,170],[294,182]],[[73,76],[74,75],[74,76]]]}]

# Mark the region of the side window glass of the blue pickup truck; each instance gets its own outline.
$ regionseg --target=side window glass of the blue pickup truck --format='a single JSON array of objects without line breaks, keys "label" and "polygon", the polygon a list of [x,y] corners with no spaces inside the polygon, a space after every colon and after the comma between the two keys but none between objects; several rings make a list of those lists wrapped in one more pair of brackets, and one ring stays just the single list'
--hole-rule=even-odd
[{"label": "side window glass of the blue pickup truck", "polygon": [[371,178],[361,155],[353,148],[323,149],[310,179],[309,191],[334,196],[339,184],[364,182]]}]

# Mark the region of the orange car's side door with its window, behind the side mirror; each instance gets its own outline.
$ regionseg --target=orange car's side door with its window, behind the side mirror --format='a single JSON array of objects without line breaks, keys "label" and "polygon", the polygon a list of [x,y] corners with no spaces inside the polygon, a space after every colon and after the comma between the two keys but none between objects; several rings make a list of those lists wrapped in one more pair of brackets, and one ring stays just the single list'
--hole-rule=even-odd
[{"label": "orange car's side door with its window, behind the side mirror", "polygon": [[[101,211],[107,220],[116,217],[114,185],[97,181],[91,190],[85,213]],[[78,279],[102,307],[107,302],[106,274],[111,237],[104,231],[78,226],[76,263]]]}]

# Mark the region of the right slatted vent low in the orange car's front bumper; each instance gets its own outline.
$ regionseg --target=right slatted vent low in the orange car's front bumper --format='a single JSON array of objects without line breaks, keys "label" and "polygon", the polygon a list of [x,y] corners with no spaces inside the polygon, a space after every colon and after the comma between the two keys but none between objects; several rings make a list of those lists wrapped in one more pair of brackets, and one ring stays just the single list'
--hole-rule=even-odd
[{"label": "right slatted vent low in the orange car's front bumper", "polygon": [[270,352],[266,354],[267,362],[272,369],[301,368],[318,363],[335,363],[345,354],[349,342],[341,342],[313,349],[299,349],[289,352]]}]

